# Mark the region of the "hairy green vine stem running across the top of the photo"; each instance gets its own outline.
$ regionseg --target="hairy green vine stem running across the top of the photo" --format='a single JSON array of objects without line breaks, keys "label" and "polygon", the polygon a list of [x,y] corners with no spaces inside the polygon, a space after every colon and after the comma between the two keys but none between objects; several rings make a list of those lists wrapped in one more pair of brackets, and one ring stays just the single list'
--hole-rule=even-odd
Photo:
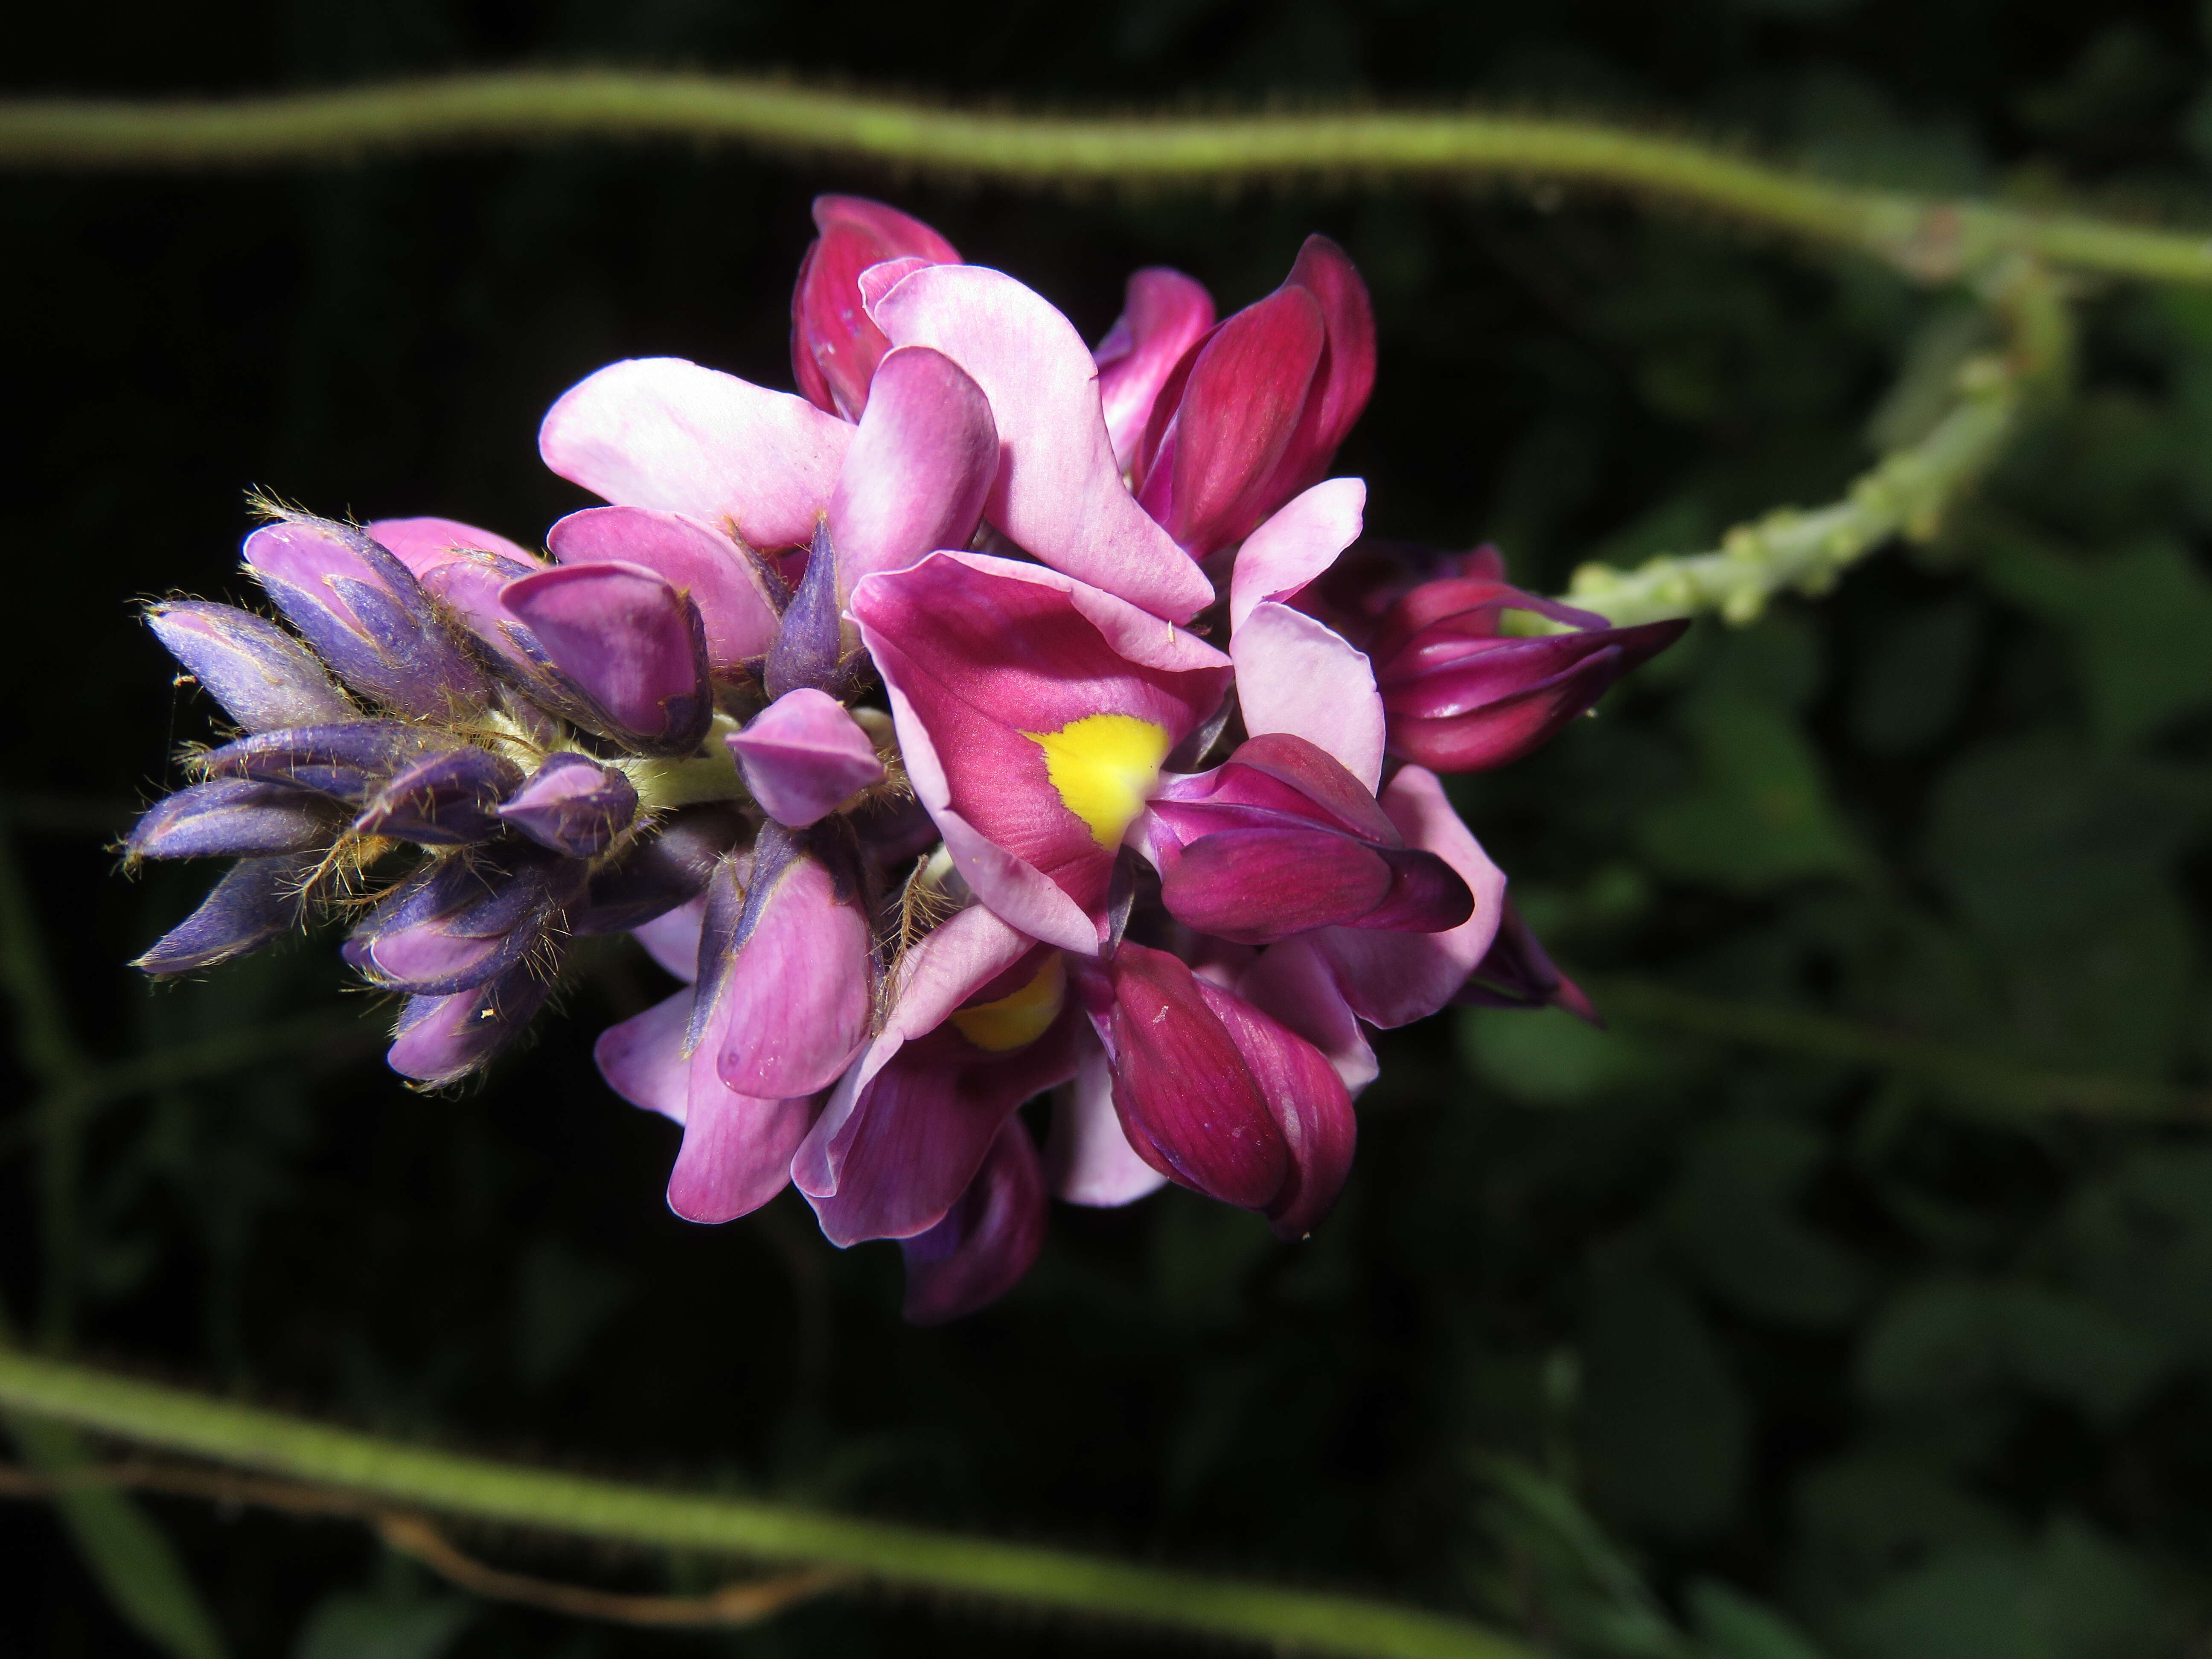
[{"label": "hairy green vine stem running across the top of the photo", "polygon": [[741,144],[1048,190],[1511,177],[1650,195],[1858,248],[1929,281],[2020,252],[2212,283],[2208,234],[1854,188],[1690,139],[1480,111],[1068,117],[646,71],[500,71],[219,102],[0,102],[0,166],[18,170],[301,166],[560,139]]}]

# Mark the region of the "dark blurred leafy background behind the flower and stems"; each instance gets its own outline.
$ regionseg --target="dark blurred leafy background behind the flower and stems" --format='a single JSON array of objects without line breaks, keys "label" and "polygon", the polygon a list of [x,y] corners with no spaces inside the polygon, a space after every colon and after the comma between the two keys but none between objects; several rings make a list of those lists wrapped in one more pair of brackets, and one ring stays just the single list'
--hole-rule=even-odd
[{"label": "dark blurred leafy background behind the flower and stems", "polygon": [[[2183,4],[119,2],[11,18],[7,60],[9,91],[80,93],[617,62],[1066,108],[1473,97],[2212,219]],[[1062,201],[675,144],[0,179],[0,776],[100,1055],[361,1006],[327,940],[157,993],[117,967],[210,874],[128,883],[106,849],[208,714],[133,602],[248,593],[248,484],[533,540],[582,504],[533,434],[588,369],[666,352],[787,385],[816,190],[898,201],[1091,336],[1135,265],[1228,310],[1327,230],[1383,330],[1340,460],[1369,526],[1498,540],[1551,588],[1832,498],[1909,427],[1900,365],[1960,338],[1958,294],[1856,257],[1511,188]],[[1756,628],[1701,624],[1604,719],[1462,790],[1568,967],[2208,1082],[2212,294],[2110,285],[2084,323],[2073,400],[1942,542]],[[626,945],[586,956],[564,1015],[460,1097],[407,1093],[341,1024],[104,1108],[62,1188],[15,1071],[7,1303],[338,1420],[1387,1593],[1577,1655],[1796,1659],[1745,1597],[1838,1659],[2208,1641],[2197,1128],[1971,1108],[1626,1020],[1442,1018],[1385,1042],[1314,1241],[1183,1192],[1057,1210],[1013,1296],[914,1332],[896,1252],[834,1252],[792,1194],[721,1230],[668,1214],[675,1130],[588,1060],[664,989]],[[60,1259],[58,1194],[82,1212]],[[1533,1473],[1500,1486],[1495,1458]],[[1542,1517],[1568,1493],[1610,1544]],[[254,1659],[1175,1650],[918,1599],[723,1637],[571,1626],[460,1601],[354,1526],[150,1509]],[[467,1542],[633,1588],[721,1571]],[[1641,1577],[1606,1579],[1604,1551]],[[137,1650],[44,1511],[0,1513],[0,1650]]]}]

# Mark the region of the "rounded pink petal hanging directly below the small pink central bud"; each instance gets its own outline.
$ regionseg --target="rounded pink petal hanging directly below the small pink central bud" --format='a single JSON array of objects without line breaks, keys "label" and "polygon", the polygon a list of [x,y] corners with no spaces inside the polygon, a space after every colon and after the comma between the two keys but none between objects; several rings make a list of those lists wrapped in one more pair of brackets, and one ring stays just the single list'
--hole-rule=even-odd
[{"label": "rounded pink petal hanging directly below the small pink central bud", "polygon": [[[799,854],[745,896],[752,931],[737,947],[717,1022],[721,1079],[739,1095],[790,1099],[836,1082],[867,1040],[874,960],[858,894]],[[706,1042],[701,1040],[701,1051]]]}]

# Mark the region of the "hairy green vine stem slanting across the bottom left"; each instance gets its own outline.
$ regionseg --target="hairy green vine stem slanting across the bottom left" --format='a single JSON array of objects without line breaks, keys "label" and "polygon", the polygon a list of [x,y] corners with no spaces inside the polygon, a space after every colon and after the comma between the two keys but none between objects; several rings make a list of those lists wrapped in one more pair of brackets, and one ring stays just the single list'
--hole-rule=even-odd
[{"label": "hairy green vine stem slanting across the bottom left", "polygon": [[0,1405],[394,1504],[1363,1659],[1535,1659],[1442,1613],[493,1462],[0,1347]]}]

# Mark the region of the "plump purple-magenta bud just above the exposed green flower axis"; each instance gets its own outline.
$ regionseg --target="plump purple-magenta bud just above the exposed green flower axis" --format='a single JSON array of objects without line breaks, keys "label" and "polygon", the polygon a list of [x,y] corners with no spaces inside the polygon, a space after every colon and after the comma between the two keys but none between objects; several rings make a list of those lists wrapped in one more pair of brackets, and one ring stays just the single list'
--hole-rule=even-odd
[{"label": "plump purple-magenta bud just above the exposed green flower axis", "polygon": [[699,748],[714,717],[699,606],[641,564],[564,564],[500,588],[546,657],[615,732],[661,754]]}]

